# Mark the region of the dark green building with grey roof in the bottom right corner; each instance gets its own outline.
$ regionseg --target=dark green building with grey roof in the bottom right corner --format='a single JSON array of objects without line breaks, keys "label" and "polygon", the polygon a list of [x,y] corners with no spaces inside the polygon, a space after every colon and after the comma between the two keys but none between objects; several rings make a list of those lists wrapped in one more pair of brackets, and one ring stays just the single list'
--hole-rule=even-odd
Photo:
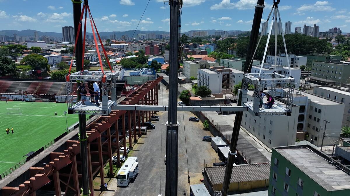
[{"label": "dark green building with grey roof in the bottom right corner", "polygon": [[350,169],[313,146],[304,143],[272,149],[269,196],[350,195]]}]

